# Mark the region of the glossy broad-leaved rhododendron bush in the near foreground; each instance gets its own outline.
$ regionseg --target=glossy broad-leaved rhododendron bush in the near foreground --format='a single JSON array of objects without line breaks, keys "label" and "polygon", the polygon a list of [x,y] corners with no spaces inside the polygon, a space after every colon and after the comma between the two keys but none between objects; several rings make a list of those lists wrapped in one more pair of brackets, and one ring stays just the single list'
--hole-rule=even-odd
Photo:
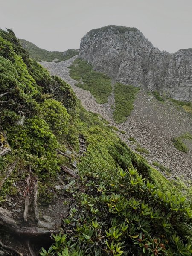
[{"label": "glossy broad-leaved rhododendron bush in the near foreground", "polygon": [[109,171],[104,159],[85,157],[79,174],[80,185],[71,184],[78,204],[63,220],[64,234],[54,235],[55,243],[42,256],[192,253],[178,228],[192,218],[185,197],[160,192],[135,169],[111,166]]}]

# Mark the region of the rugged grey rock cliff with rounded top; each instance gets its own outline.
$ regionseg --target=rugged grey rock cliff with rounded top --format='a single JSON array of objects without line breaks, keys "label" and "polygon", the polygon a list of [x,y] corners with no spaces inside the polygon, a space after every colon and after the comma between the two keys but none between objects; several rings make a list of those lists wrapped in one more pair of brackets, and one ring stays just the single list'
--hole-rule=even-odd
[{"label": "rugged grey rock cliff with rounded top", "polygon": [[80,57],[123,84],[192,101],[192,48],[170,54],[155,48],[136,28],[106,26],[81,39]]}]

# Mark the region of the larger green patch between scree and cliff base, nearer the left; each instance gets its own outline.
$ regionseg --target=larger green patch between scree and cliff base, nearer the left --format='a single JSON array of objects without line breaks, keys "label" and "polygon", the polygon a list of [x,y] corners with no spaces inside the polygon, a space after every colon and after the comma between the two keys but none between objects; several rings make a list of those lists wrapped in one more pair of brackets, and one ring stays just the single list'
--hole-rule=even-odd
[{"label": "larger green patch between scree and cliff base, nearer the left", "polygon": [[78,81],[76,86],[90,91],[99,104],[107,103],[112,92],[111,79],[81,59],[76,59],[70,66],[71,78]]}]

